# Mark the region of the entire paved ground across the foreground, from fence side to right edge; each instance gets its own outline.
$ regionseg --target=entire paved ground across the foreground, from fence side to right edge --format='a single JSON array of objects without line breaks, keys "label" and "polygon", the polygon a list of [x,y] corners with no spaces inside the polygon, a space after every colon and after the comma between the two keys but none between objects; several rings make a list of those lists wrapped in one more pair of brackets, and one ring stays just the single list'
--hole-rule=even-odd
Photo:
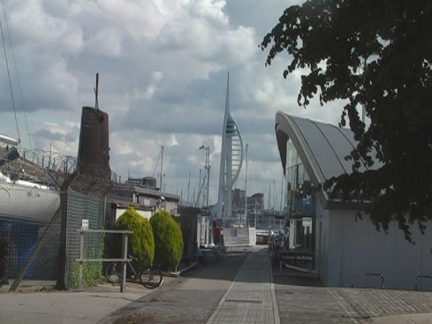
[{"label": "entire paved ground across the foreground, from fence side to right edge", "polygon": [[157,290],[129,283],[123,293],[111,285],[0,293],[0,323],[432,324],[432,292],[322,287],[280,275],[261,246],[237,249],[231,260],[164,278]]}]

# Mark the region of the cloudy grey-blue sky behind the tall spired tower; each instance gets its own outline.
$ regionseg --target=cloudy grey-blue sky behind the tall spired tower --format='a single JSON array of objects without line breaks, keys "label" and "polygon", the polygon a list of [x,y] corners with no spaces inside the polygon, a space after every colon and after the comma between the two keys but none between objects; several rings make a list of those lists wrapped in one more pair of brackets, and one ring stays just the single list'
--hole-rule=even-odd
[{"label": "cloudy grey-blue sky behind the tall spired tower", "polygon": [[[18,137],[13,94],[22,148],[76,156],[81,108],[95,105],[99,73],[111,170],[122,182],[159,179],[163,147],[163,191],[193,200],[205,164],[199,147],[208,146],[209,203],[215,203],[230,72],[231,116],[248,144],[247,193],[264,193],[265,207],[278,209],[277,110],[333,124],[341,112],[317,102],[298,106],[300,73],[282,77],[289,57],[264,64],[262,38],[284,8],[300,2],[2,0],[12,91],[2,50],[0,133]],[[243,190],[245,169],[236,185]]]}]

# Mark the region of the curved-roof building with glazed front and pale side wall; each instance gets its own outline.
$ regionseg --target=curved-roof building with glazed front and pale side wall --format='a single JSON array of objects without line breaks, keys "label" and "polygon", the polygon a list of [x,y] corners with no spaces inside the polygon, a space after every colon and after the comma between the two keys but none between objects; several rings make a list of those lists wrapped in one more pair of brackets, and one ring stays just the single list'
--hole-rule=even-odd
[{"label": "curved-roof building with glazed front and pale side wall", "polygon": [[[432,290],[432,222],[421,234],[411,226],[415,245],[397,222],[378,231],[360,204],[331,200],[310,187],[352,172],[345,156],[356,147],[352,131],[277,112],[275,131],[286,179],[290,251],[310,252],[313,271],[327,286]],[[414,180],[414,179],[413,179]],[[299,267],[307,267],[301,263]]]}]

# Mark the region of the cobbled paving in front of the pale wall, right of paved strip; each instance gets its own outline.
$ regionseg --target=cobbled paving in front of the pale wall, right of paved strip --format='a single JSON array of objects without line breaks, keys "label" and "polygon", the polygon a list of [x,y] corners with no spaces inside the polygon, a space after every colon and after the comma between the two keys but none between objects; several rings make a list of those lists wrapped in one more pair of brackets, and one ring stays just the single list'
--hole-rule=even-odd
[{"label": "cobbled paving in front of the pale wall, right of paved strip", "polygon": [[276,285],[281,323],[430,323],[430,292]]}]

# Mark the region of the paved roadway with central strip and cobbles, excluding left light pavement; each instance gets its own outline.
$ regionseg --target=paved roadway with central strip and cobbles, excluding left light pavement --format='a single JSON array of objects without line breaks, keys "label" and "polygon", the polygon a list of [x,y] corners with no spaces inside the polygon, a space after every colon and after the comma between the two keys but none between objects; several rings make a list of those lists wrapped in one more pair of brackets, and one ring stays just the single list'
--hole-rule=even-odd
[{"label": "paved roadway with central strip and cobbles, excluding left light pavement", "polygon": [[101,321],[148,322],[425,324],[432,292],[322,287],[288,270],[280,275],[261,246],[237,248],[229,260],[194,268]]}]

